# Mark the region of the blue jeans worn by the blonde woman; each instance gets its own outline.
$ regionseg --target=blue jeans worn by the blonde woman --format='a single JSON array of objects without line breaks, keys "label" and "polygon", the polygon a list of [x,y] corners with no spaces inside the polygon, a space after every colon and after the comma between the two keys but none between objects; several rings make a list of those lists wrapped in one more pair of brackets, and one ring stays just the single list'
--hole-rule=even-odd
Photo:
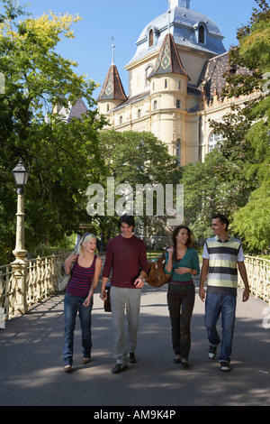
[{"label": "blue jeans worn by the blonde woman", "polygon": [[76,314],[79,313],[82,329],[83,357],[91,358],[92,335],[91,335],[91,313],[93,308],[93,298],[90,305],[85,308],[83,305],[85,298],[73,296],[66,293],[64,300],[65,310],[65,342],[63,349],[63,359],[65,365],[73,363],[74,330],[76,326]]}]

